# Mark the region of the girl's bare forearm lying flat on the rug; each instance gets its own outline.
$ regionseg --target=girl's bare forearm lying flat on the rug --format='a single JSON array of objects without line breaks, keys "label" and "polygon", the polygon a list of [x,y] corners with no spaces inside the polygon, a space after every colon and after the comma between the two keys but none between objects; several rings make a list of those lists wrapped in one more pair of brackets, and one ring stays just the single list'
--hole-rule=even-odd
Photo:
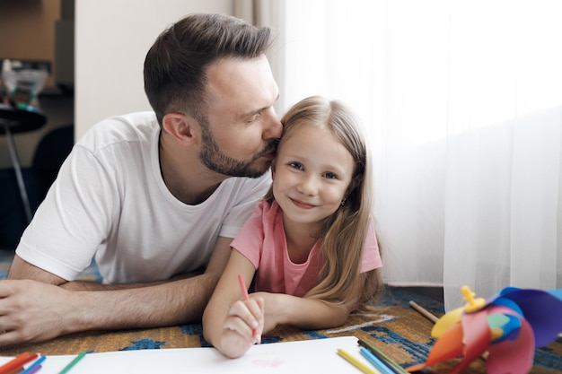
[{"label": "girl's bare forearm lying flat on the rug", "polygon": [[283,293],[255,292],[250,294],[250,298],[264,300],[264,332],[277,325],[291,325],[304,330],[341,326],[346,323],[351,312],[350,307],[345,305]]}]

